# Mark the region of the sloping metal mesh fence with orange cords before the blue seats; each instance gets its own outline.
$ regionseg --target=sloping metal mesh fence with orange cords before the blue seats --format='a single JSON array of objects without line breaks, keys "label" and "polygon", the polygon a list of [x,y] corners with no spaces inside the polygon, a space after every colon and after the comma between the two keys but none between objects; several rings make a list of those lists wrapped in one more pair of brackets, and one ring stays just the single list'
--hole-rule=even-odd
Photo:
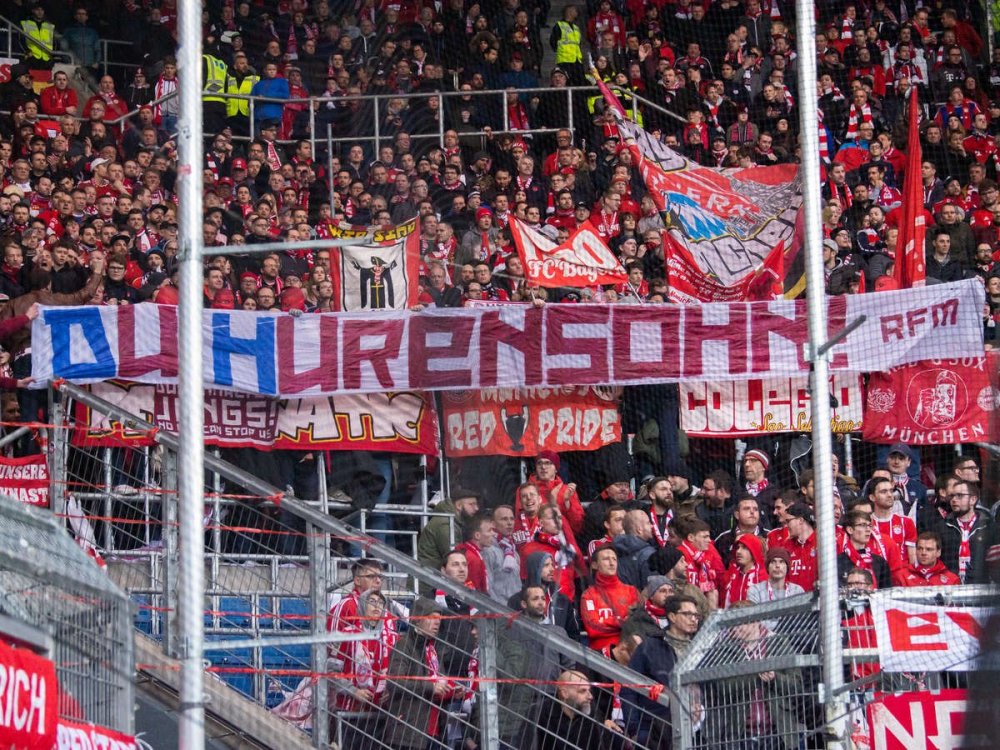
[{"label": "sloping metal mesh fence with orange cords before the blue seats", "polygon": [[[53,507],[78,510],[78,533],[89,535],[139,607],[136,627],[176,655],[176,438],[150,431],[150,446],[88,447],[76,421],[83,407],[130,430],[148,427],[63,384],[50,416]],[[546,733],[565,732],[580,743],[599,741],[595,733],[613,742],[611,726],[623,719],[619,693],[655,698],[656,686],[622,664],[344,524],[324,505],[326,491],[307,504],[220,457],[207,456],[206,469],[208,669],[257,705],[277,708],[314,746],[531,748]],[[381,638],[368,621],[346,629],[355,641],[327,632],[331,606],[353,593],[355,554],[385,565],[381,590],[399,632],[391,658],[374,670],[365,649]],[[417,592],[428,589],[437,592],[433,611],[412,616]],[[423,631],[435,628],[432,659]],[[370,700],[354,702],[369,687]],[[659,701],[665,711],[666,697]]]}]

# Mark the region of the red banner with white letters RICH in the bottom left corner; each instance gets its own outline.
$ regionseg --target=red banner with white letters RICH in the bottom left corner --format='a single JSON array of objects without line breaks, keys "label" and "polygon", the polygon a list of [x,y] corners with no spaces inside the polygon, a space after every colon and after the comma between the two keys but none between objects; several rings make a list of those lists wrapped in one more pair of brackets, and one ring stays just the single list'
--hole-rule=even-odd
[{"label": "red banner with white letters RICH in the bottom left corner", "polygon": [[55,665],[0,640],[0,706],[0,747],[51,750],[59,709]]}]

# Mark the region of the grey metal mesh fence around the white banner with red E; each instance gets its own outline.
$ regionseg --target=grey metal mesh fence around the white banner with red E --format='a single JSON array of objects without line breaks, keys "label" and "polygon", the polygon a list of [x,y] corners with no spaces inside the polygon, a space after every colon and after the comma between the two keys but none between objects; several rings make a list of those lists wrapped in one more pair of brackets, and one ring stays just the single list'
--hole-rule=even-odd
[{"label": "grey metal mesh fence around the white banner with red E", "polygon": [[[958,607],[995,606],[991,586],[892,588],[845,592],[841,599],[845,680],[852,734],[868,736],[865,708],[878,694],[967,687],[974,664],[919,672],[889,671],[871,607],[878,601]],[[819,748],[824,734],[819,602],[800,595],[715,613],[672,676],[674,747]],[[846,742],[847,738],[839,738]]]}]

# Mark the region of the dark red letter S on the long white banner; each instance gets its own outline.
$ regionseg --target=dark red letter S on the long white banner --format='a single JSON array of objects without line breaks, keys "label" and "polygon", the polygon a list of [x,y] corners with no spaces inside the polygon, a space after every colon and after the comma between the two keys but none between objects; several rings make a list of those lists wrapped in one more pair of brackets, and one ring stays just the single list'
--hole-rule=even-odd
[{"label": "dark red letter S on the long white banner", "polygon": [[[547,359],[558,355],[576,355],[581,361],[575,367],[553,366],[547,369],[550,383],[600,385],[610,380],[608,368],[608,322],[611,308],[582,305],[550,305],[546,308],[545,354]],[[569,326],[592,328],[590,331],[569,331]],[[599,329],[599,330],[598,330]],[[587,335],[573,335],[586,333]],[[569,334],[569,335],[567,335]],[[586,362],[586,364],[582,364]]]}]

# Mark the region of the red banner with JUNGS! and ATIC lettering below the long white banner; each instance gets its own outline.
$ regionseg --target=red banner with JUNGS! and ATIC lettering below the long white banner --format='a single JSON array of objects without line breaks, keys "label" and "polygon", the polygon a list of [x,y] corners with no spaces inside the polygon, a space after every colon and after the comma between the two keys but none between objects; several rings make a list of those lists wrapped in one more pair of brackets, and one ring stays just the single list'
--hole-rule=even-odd
[{"label": "red banner with JUNGS! and ATIC lettering below the long white banner", "polygon": [[[177,388],[109,381],[91,391],[167,432],[177,431]],[[144,431],[126,430],[77,402],[84,446],[151,445]],[[235,391],[205,391],[205,444],[269,450],[378,450],[436,454],[437,415],[422,393],[274,399]]]}]

